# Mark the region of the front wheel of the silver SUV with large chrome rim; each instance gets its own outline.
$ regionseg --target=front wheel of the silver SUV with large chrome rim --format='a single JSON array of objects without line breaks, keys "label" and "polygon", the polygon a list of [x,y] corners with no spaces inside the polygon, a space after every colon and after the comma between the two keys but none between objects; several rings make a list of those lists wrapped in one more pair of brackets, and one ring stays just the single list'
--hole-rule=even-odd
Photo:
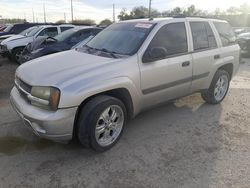
[{"label": "front wheel of the silver SUV with large chrome rim", "polygon": [[[108,110],[109,108],[110,110]],[[120,117],[118,118],[118,115],[116,122],[114,120],[114,123],[112,124],[110,113],[113,114],[116,110],[119,112],[117,114],[120,114]],[[102,118],[105,116],[101,116],[103,114],[108,115],[108,118],[105,119],[107,120],[110,118],[110,122]],[[117,131],[113,131],[115,128],[112,129],[112,126],[115,126],[116,123]],[[124,104],[119,99],[105,95],[97,96],[90,100],[80,111],[76,124],[76,136],[83,146],[91,147],[97,152],[104,152],[112,148],[118,142],[126,123],[127,111]],[[97,127],[100,129],[100,132],[102,132],[101,130],[103,129],[105,129],[105,131],[103,131],[103,133],[97,133]],[[112,142],[107,141],[107,143],[104,144],[104,140],[112,136],[114,137],[113,140],[111,139]]]}]

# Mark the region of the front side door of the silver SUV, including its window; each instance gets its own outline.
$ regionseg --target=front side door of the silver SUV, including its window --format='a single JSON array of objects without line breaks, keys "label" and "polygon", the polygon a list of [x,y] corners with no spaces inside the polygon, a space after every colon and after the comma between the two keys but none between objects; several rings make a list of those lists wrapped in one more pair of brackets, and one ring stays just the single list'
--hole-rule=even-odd
[{"label": "front side door of the silver SUV, including its window", "polygon": [[[159,48],[166,51],[166,56],[150,59],[155,49]],[[190,92],[192,55],[188,53],[185,22],[166,24],[158,30],[143,55],[140,70],[141,90],[148,105]]]}]

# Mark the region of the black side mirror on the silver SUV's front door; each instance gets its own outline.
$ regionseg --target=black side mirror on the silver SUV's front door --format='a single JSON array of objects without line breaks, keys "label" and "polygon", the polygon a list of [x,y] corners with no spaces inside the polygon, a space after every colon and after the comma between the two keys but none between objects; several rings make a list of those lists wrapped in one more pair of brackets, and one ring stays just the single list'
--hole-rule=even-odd
[{"label": "black side mirror on the silver SUV's front door", "polygon": [[157,61],[160,59],[164,59],[167,57],[167,50],[164,47],[154,47],[150,50],[147,50],[143,55],[142,61],[143,63],[149,63],[152,61]]}]

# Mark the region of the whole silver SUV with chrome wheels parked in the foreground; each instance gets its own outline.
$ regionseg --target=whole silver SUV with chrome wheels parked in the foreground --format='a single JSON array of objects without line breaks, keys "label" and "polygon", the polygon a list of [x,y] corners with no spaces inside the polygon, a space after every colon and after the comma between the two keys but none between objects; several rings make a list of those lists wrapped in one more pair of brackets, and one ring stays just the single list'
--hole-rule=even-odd
[{"label": "whole silver SUV with chrome wheels parked in the foreground", "polygon": [[221,20],[119,22],[82,47],[20,66],[11,103],[40,137],[105,151],[154,105],[195,92],[220,103],[239,66],[235,41]]}]

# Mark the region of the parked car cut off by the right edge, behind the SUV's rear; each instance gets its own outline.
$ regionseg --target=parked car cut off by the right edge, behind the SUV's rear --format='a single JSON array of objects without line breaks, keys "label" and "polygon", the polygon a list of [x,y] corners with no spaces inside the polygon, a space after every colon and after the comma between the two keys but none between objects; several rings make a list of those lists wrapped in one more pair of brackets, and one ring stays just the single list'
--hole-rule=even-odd
[{"label": "parked car cut off by the right edge, behind the SUV's rear", "polygon": [[241,54],[243,56],[250,56],[250,32],[241,33],[237,37],[237,41],[241,48]]}]

